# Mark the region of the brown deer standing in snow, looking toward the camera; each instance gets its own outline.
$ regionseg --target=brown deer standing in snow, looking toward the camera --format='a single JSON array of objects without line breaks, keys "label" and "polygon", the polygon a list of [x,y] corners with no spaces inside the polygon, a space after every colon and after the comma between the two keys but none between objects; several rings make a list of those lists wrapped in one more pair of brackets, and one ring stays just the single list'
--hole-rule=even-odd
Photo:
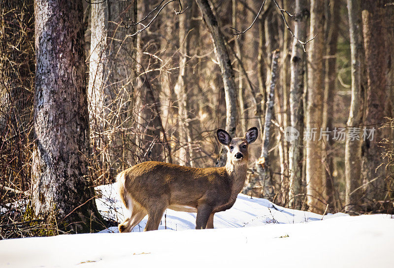
[{"label": "brown deer standing in snow, looking toward the camera", "polygon": [[212,229],[214,213],[231,208],[246,180],[248,146],[258,130],[250,128],[244,137],[231,138],[223,129],[216,132],[227,149],[224,167],[194,168],[146,161],[117,175],[120,199],[130,210],[118,229],[131,230],[146,216],[144,231],[158,230],[165,209],[197,212],[196,229]]}]

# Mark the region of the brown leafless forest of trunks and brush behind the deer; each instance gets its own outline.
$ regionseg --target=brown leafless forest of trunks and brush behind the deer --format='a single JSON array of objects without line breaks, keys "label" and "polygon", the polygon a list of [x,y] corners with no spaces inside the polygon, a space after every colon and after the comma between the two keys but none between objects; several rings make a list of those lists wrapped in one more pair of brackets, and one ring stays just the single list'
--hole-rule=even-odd
[{"label": "brown leafless forest of trunks and brush behind the deer", "polygon": [[217,129],[258,130],[247,196],[394,214],[393,0],[1,0],[0,100],[0,239],[117,226],[95,187]]}]

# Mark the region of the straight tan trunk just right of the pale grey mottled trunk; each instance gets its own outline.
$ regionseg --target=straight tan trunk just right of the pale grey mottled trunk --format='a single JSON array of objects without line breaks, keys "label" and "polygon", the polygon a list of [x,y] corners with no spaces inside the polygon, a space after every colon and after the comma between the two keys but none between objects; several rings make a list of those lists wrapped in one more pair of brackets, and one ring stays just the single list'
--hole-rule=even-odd
[{"label": "straight tan trunk just right of the pale grey mottled trunk", "polygon": [[[308,43],[308,89],[306,131],[306,184],[307,202],[311,211],[325,210],[325,174],[322,164],[322,140],[319,141],[323,123],[323,51],[324,51],[324,4],[311,0],[310,36]],[[315,132],[315,137],[313,137]]]}]

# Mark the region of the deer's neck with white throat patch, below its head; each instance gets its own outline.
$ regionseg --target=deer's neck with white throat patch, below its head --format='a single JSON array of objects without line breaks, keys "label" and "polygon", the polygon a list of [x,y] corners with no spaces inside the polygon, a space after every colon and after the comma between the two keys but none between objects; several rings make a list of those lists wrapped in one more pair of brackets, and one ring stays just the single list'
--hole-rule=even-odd
[{"label": "deer's neck with white throat patch, below its head", "polygon": [[229,157],[227,158],[225,168],[231,180],[231,199],[235,200],[245,184],[247,163],[247,159],[239,163],[233,163]]}]

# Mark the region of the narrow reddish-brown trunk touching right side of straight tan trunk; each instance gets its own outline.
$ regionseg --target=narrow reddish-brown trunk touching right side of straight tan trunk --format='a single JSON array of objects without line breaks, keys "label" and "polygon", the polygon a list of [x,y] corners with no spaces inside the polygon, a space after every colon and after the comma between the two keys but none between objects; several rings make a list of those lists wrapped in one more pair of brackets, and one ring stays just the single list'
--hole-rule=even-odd
[{"label": "narrow reddish-brown trunk touching right side of straight tan trunk", "polygon": [[[339,0],[328,0],[328,6],[326,10],[326,34],[327,34],[327,49],[326,49],[326,79],[325,79],[325,92],[324,92],[324,123],[323,129],[331,131],[333,129],[332,121],[333,114],[330,111],[334,110],[334,96],[336,89],[336,47],[338,43],[338,21],[339,21]],[[334,140],[332,135],[328,136],[328,141],[325,140],[323,143],[324,153],[323,158],[325,159],[325,171],[326,171],[326,192],[328,211],[338,211],[336,207],[335,191],[334,191],[334,180],[332,178],[333,161],[332,155]]]}]

